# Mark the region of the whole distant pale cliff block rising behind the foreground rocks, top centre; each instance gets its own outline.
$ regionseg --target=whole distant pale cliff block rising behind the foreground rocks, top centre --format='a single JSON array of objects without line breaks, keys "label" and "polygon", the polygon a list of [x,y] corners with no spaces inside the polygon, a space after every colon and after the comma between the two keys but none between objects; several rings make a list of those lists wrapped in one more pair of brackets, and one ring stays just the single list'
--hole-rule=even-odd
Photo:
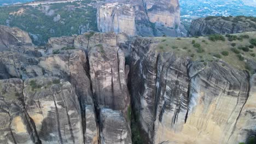
[{"label": "whole distant pale cliff block rising behind the foreground rocks, top centre", "polygon": [[97,9],[97,27],[101,32],[142,36],[180,37],[187,33],[181,26],[177,0],[106,1]]}]

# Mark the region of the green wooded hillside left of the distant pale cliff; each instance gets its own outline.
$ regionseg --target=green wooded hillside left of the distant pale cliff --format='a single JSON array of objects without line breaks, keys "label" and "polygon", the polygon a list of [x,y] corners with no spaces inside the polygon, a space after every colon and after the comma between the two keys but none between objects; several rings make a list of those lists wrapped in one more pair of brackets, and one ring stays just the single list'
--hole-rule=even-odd
[{"label": "green wooded hillside left of the distant pale cliff", "polygon": [[0,25],[19,27],[30,33],[34,44],[44,45],[51,37],[97,31],[97,10],[90,2],[0,7]]}]

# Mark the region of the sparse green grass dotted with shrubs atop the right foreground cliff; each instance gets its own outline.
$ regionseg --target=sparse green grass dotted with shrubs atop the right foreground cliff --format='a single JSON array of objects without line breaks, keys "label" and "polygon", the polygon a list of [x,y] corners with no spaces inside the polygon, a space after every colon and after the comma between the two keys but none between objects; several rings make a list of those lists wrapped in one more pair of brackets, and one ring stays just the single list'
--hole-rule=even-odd
[{"label": "sparse green grass dotted with shrubs atop the right foreground cliff", "polygon": [[[150,38],[150,39],[157,42],[156,43],[157,45],[155,46],[155,48],[156,50],[159,50],[159,52],[169,52],[169,51],[174,52],[176,56],[190,57],[191,61],[201,61],[202,59],[205,61],[210,61],[210,60],[216,61],[220,56],[222,61],[228,63],[230,66],[240,70],[245,70],[246,62],[243,60],[243,58],[244,59],[251,58],[254,61],[256,61],[256,56],[253,57],[253,55],[251,55],[252,53],[256,54],[256,50],[249,48],[249,46],[252,45],[249,43],[249,41],[252,38],[255,38],[256,32],[232,34],[232,35],[237,35],[237,37],[240,37],[240,35],[246,35],[246,34],[249,35],[249,39],[245,38],[243,39],[243,41],[236,41],[234,44],[230,43],[228,40],[211,41],[211,40],[208,40],[208,37],[199,37],[197,39],[182,38],[182,40],[177,40],[177,38],[171,38],[171,37]],[[166,39],[166,41],[159,42],[162,39]],[[207,41],[208,44],[202,43],[203,40]],[[193,42],[194,44],[191,44],[191,42]],[[173,46],[178,46],[178,49],[172,49]],[[159,49],[159,47],[162,47],[164,50]],[[243,47],[246,47],[246,48],[243,48]],[[173,48],[176,48],[176,47],[173,47]],[[247,52],[247,49],[249,50],[248,52]],[[216,53],[219,53],[219,55],[214,56],[214,54]],[[238,56],[238,54],[240,53],[241,53],[241,57]]]}]

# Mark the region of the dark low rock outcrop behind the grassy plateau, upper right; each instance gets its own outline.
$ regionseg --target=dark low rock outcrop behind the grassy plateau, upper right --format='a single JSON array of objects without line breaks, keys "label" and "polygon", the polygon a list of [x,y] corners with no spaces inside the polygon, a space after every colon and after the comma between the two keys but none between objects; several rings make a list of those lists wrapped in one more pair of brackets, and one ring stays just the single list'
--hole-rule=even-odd
[{"label": "dark low rock outcrop behind the grassy plateau, upper right", "polygon": [[188,31],[190,36],[232,34],[256,31],[251,17],[206,17],[193,20]]}]

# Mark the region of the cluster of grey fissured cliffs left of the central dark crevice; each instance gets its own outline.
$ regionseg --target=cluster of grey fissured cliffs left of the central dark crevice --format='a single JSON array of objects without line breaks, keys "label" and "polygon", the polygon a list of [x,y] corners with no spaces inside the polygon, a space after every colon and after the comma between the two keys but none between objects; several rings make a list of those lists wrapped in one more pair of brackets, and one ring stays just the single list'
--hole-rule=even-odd
[{"label": "cluster of grey fissured cliffs left of the central dark crevice", "polygon": [[[131,143],[129,39],[124,33],[86,33],[52,38],[45,50],[29,41],[1,48],[0,143],[114,143],[119,134],[120,141]],[[125,126],[123,132],[103,130],[105,142],[100,129],[107,124],[102,128],[98,121],[104,107],[111,108],[107,115],[120,124],[117,129]]]}]

